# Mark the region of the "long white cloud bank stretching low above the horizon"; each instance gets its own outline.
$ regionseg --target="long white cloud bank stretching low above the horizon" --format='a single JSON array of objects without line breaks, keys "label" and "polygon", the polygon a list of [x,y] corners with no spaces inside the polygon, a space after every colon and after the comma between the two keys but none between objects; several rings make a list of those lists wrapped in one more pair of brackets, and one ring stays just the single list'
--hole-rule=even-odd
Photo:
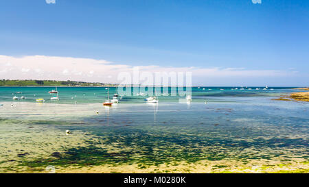
[{"label": "long white cloud bank stretching low above the horizon", "polygon": [[[192,72],[192,81],[201,82],[201,79],[227,79],[286,77],[297,74],[295,70],[247,70],[246,68],[198,68],[194,66],[139,66],[140,71],[155,72]],[[32,55],[16,58],[0,55],[0,79],[56,79],[76,80],[85,82],[117,83],[120,72],[131,73],[133,66],[115,64],[106,60],[90,58],[69,58],[45,55]],[[23,73],[19,73],[23,72]],[[198,81],[196,81],[198,79]]]}]

